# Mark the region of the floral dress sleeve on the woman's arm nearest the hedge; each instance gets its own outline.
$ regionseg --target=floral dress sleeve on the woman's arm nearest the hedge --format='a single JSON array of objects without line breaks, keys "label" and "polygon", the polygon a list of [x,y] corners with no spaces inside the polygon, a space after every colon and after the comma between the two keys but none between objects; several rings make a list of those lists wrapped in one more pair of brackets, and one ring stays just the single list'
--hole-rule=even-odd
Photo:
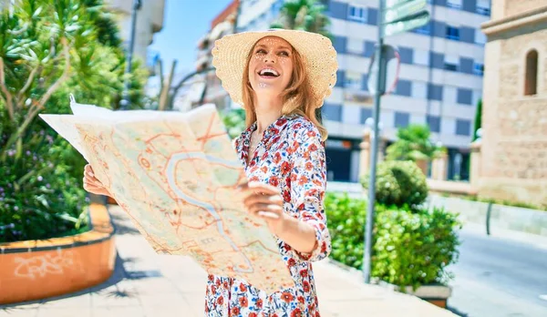
[{"label": "floral dress sleeve on the woman's arm nearest the hedge", "polygon": [[325,147],[317,131],[298,131],[292,146],[291,202],[298,219],[315,229],[315,249],[311,253],[291,250],[301,261],[321,261],[331,251],[326,226],[324,198],[326,189]]}]

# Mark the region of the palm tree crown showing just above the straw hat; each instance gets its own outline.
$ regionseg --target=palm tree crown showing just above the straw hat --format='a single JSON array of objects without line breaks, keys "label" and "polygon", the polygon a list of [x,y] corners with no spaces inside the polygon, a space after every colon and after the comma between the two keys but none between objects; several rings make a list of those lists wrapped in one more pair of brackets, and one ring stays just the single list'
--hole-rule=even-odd
[{"label": "palm tree crown showing just above the straw hat", "polygon": [[[318,0],[287,0],[279,19],[270,27],[303,30],[331,38],[328,26],[330,19],[325,15],[326,6]],[[321,108],[315,109],[315,117],[322,122]]]}]

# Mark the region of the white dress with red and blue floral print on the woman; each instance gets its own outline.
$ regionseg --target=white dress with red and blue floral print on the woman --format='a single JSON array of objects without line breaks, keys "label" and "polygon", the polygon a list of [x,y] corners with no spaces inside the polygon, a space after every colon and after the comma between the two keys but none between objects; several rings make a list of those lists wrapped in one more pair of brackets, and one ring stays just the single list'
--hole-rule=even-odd
[{"label": "white dress with red and blue floral print on the woman", "polygon": [[270,295],[246,281],[209,275],[205,316],[319,316],[311,262],[325,259],[331,251],[323,206],[324,144],[307,118],[283,116],[264,131],[253,159],[247,164],[254,129],[256,123],[234,141],[249,181],[262,181],[281,190],[284,212],[315,228],[315,249],[304,254],[277,239],[280,256],[291,271],[295,287]]}]

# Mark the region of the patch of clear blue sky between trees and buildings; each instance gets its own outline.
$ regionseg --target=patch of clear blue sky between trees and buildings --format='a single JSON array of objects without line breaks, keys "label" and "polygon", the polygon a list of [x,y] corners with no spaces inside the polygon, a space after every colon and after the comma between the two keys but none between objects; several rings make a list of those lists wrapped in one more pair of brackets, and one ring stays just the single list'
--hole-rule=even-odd
[{"label": "patch of clear blue sky between trees and buildings", "polygon": [[177,59],[176,73],[195,68],[197,43],[211,28],[212,19],[232,0],[165,0],[163,29],[154,36],[150,51],[160,53],[163,72]]}]

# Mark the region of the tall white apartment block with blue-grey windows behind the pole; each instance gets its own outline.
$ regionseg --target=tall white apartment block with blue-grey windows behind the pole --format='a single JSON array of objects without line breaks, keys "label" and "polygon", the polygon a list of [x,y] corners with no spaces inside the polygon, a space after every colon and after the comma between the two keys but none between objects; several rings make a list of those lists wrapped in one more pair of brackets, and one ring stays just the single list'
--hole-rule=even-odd
[{"label": "tall white apartment block with blue-grey windows behind the pole", "polygon": [[[373,96],[367,69],[377,42],[377,0],[330,0],[339,71],[323,107],[329,131],[329,180],[358,180],[359,143],[372,117]],[[242,1],[238,31],[266,29],[283,0]],[[448,179],[469,178],[470,141],[482,92],[484,44],[480,25],[489,20],[490,0],[429,0],[431,21],[411,32],[388,37],[401,66],[394,91],[382,97],[380,122],[387,143],[397,128],[427,124],[432,140],[449,149]]]}]

